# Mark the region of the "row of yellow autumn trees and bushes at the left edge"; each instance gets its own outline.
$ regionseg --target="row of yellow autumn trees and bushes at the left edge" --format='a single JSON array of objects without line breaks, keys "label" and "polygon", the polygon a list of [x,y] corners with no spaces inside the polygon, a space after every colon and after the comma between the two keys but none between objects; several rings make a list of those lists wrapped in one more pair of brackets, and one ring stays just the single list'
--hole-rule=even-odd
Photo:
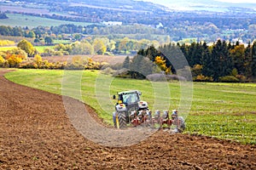
[{"label": "row of yellow autumn trees and bushes at the left edge", "polygon": [[105,63],[99,63],[88,57],[75,56],[71,61],[51,63],[43,59],[31,42],[21,40],[17,48],[0,51],[0,67],[29,69],[72,69],[99,70]]}]

